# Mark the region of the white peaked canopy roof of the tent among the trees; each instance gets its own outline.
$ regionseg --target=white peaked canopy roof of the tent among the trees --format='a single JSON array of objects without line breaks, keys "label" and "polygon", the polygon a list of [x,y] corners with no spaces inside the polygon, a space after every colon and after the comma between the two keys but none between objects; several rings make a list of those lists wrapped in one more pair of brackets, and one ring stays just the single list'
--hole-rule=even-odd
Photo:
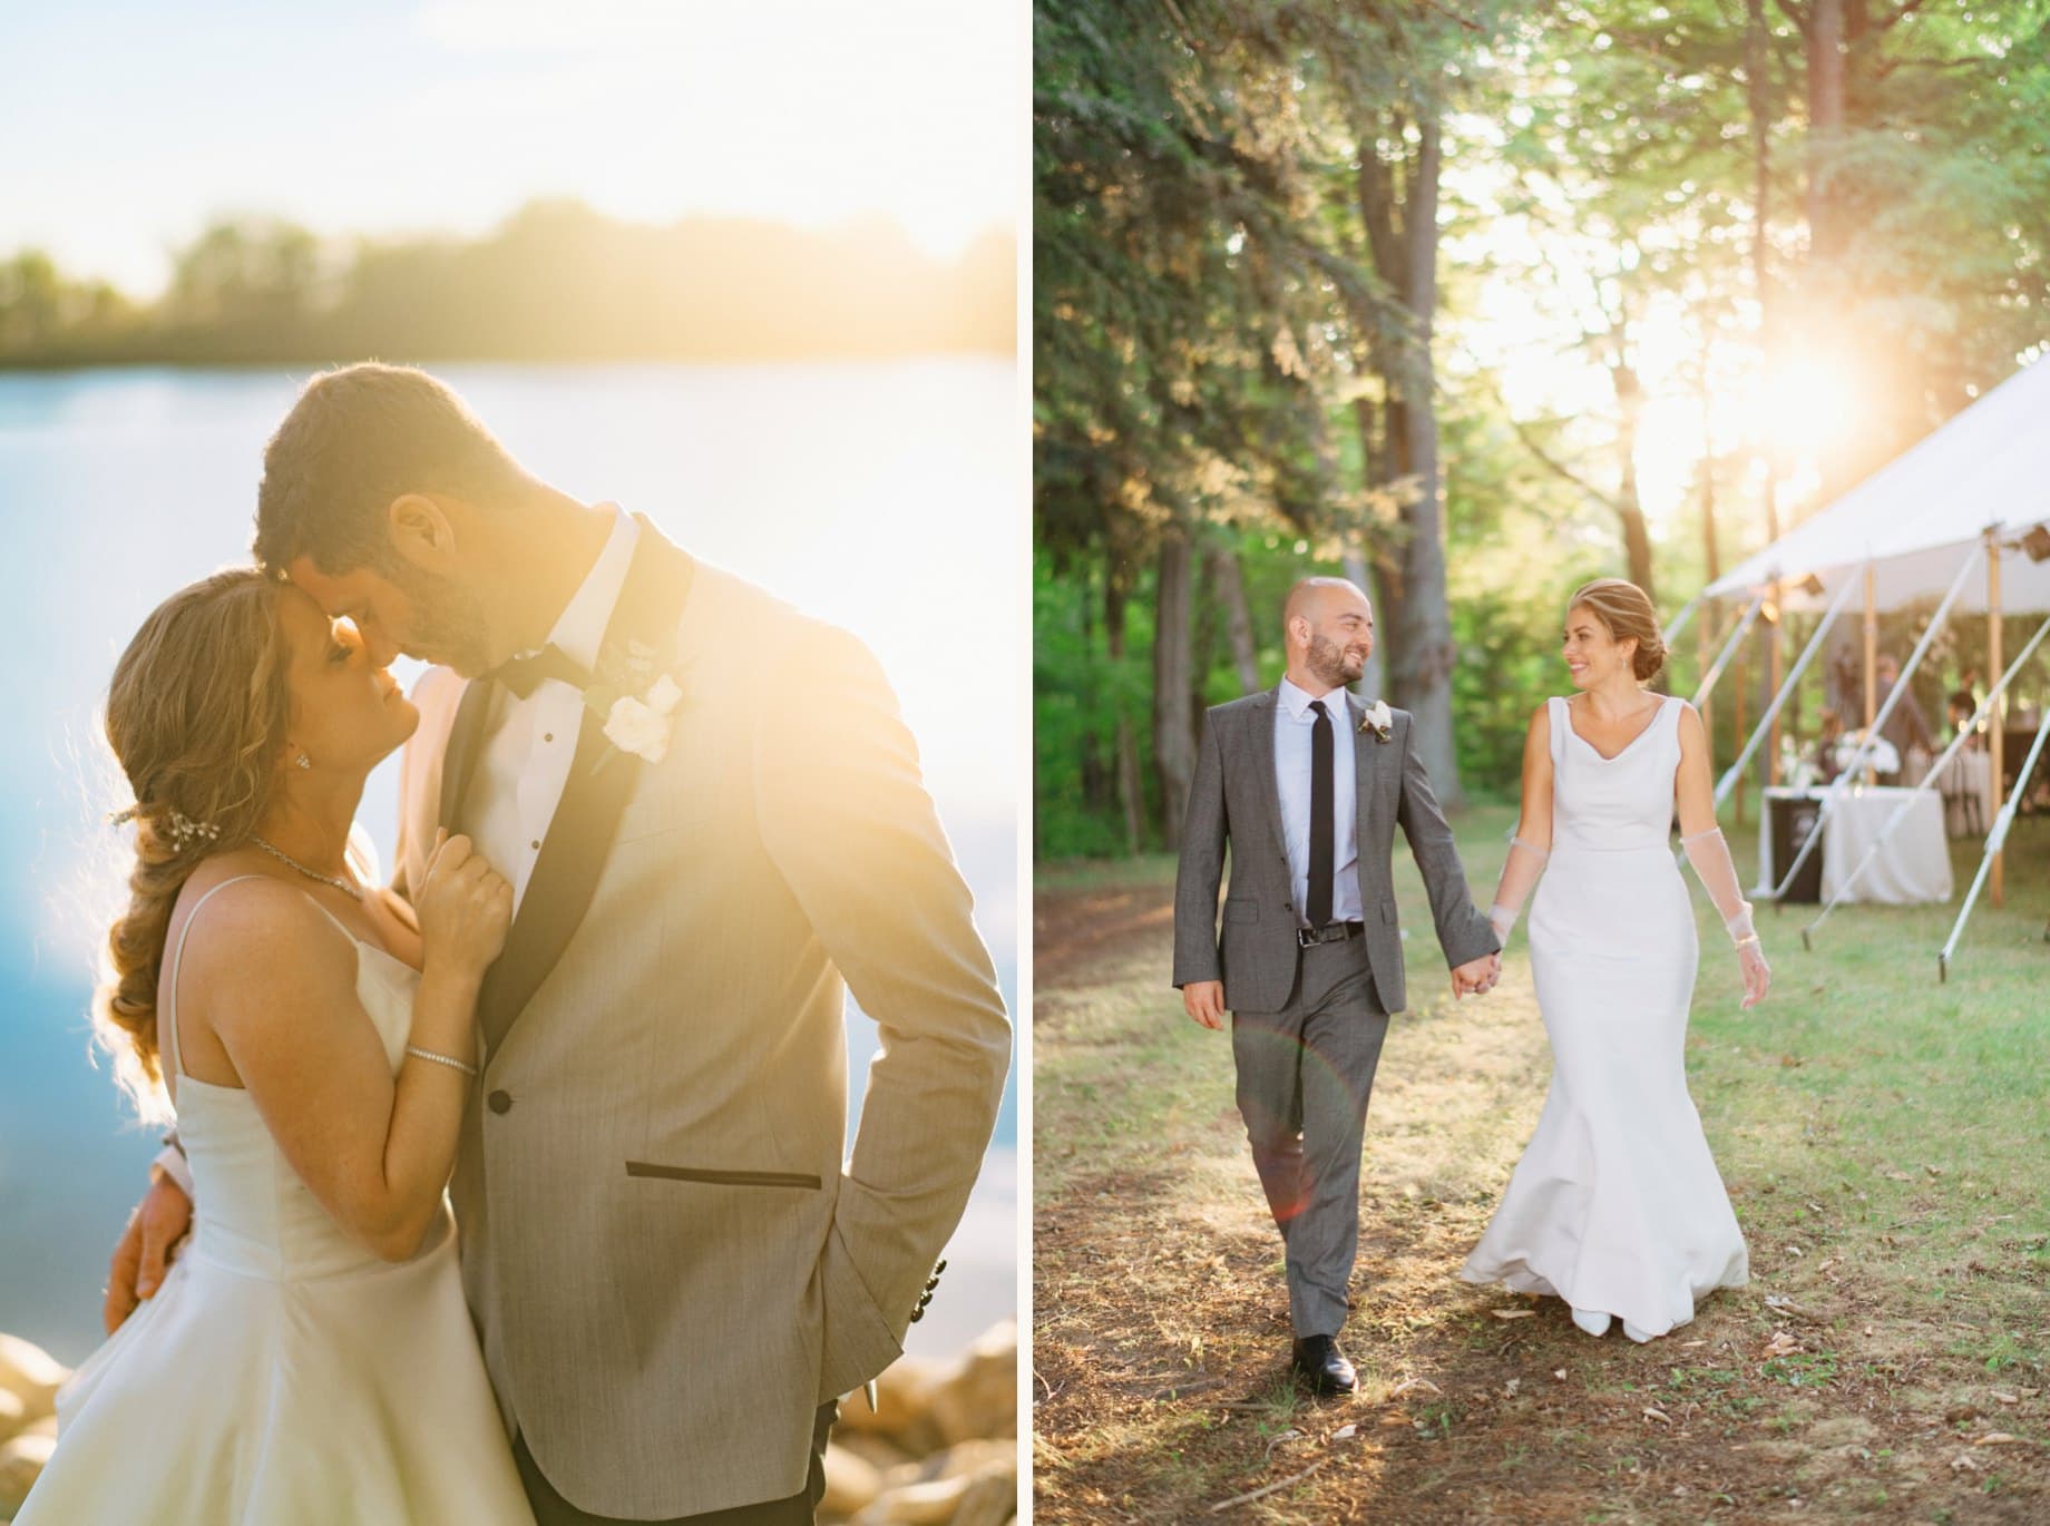
[{"label": "white peaked canopy roof of the tent among the trees", "polygon": [[[2001,610],[2050,612],[2050,561],[2034,561],[2013,545],[2044,524],[2050,361],[2017,371],[1706,594],[1732,598],[1779,582],[1781,606],[1820,608],[1847,578],[1863,580],[1872,563],[1878,608],[1935,602],[1991,531],[2003,543]],[[1958,612],[1986,612],[1986,580],[1964,588]]]}]

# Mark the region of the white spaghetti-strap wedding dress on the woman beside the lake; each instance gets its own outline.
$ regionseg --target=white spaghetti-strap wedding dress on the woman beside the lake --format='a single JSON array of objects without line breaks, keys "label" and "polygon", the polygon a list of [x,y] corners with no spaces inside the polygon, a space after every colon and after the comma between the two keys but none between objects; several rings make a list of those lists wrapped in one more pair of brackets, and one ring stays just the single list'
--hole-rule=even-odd
[{"label": "white spaghetti-strap wedding dress on the woman beside the lake", "polygon": [[[396,1071],[418,973],[353,942]],[[166,993],[182,950],[180,934]],[[193,1237],[57,1393],[57,1448],[16,1526],[531,1526],[447,1206],[414,1260],[379,1260],[314,1200],[248,1092],[182,1073],[174,1000],[166,1028]]]}]

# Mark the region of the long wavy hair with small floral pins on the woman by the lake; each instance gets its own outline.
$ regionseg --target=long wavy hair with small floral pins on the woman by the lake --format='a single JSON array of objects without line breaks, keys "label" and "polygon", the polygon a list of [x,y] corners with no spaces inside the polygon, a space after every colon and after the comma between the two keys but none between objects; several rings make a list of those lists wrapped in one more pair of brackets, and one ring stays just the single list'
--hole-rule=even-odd
[{"label": "long wavy hair with small floral pins on the woman by the lake", "polygon": [[170,909],[205,858],[256,830],[291,723],[277,594],[254,567],[180,588],[141,623],[107,692],[107,741],[135,791],[135,866],[92,1022],[146,1116],[164,1082],[156,985]]}]

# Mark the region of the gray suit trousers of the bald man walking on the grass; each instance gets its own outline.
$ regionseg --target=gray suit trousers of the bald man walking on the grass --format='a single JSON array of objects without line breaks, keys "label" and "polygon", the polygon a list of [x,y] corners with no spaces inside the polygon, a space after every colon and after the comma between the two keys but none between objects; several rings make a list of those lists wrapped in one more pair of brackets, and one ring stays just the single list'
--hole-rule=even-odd
[{"label": "gray suit trousers of the bald man walking on the grass", "polygon": [[1279,1012],[1232,1014],[1238,1112],[1287,1247],[1296,1336],[1337,1336],[1359,1252],[1359,1145],[1388,1036],[1363,938],[1304,948]]}]

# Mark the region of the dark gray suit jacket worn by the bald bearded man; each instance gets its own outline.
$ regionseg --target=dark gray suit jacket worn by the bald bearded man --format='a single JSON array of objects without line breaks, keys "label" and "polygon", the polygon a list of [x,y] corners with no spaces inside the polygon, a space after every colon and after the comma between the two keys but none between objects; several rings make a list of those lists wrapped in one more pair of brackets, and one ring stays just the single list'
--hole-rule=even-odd
[{"label": "dark gray suit jacket worn by the bald bearded man", "polygon": [[[1175,879],[1175,985],[1224,981],[1234,1012],[1277,1012],[1296,987],[1294,885],[1281,836],[1281,795],[1275,789],[1275,705],[1265,694],[1218,705],[1203,725],[1181,832]],[[1353,782],[1359,791],[1359,905],[1365,912],[1367,961],[1388,1012],[1408,1004],[1402,975],[1402,934],[1390,877],[1394,830],[1402,823],[1410,856],[1423,871],[1431,920],[1447,965],[1464,965],[1501,948],[1488,920],[1474,907],[1451,828],[1437,807],[1431,780],[1410,748],[1410,713],[1392,711],[1388,741],[1361,731],[1365,715],[1347,694],[1353,735]],[[1226,842],[1232,883],[1218,936],[1218,883]]]}]

